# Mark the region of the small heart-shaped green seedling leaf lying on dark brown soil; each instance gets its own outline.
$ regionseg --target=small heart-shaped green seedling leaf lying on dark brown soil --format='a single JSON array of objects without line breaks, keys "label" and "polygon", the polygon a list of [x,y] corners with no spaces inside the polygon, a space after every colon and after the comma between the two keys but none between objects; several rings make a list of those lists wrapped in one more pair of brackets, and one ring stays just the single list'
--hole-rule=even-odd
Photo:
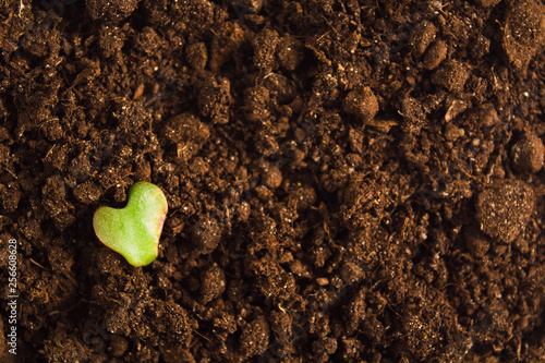
[{"label": "small heart-shaped green seedling leaf lying on dark brown soil", "polygon": [[137,182],[129,190],[126,207],[98,208],[93,227],[100,242],[131,265],[145,266],[157,258],[167,210],[167,198],[157,185]]}]

